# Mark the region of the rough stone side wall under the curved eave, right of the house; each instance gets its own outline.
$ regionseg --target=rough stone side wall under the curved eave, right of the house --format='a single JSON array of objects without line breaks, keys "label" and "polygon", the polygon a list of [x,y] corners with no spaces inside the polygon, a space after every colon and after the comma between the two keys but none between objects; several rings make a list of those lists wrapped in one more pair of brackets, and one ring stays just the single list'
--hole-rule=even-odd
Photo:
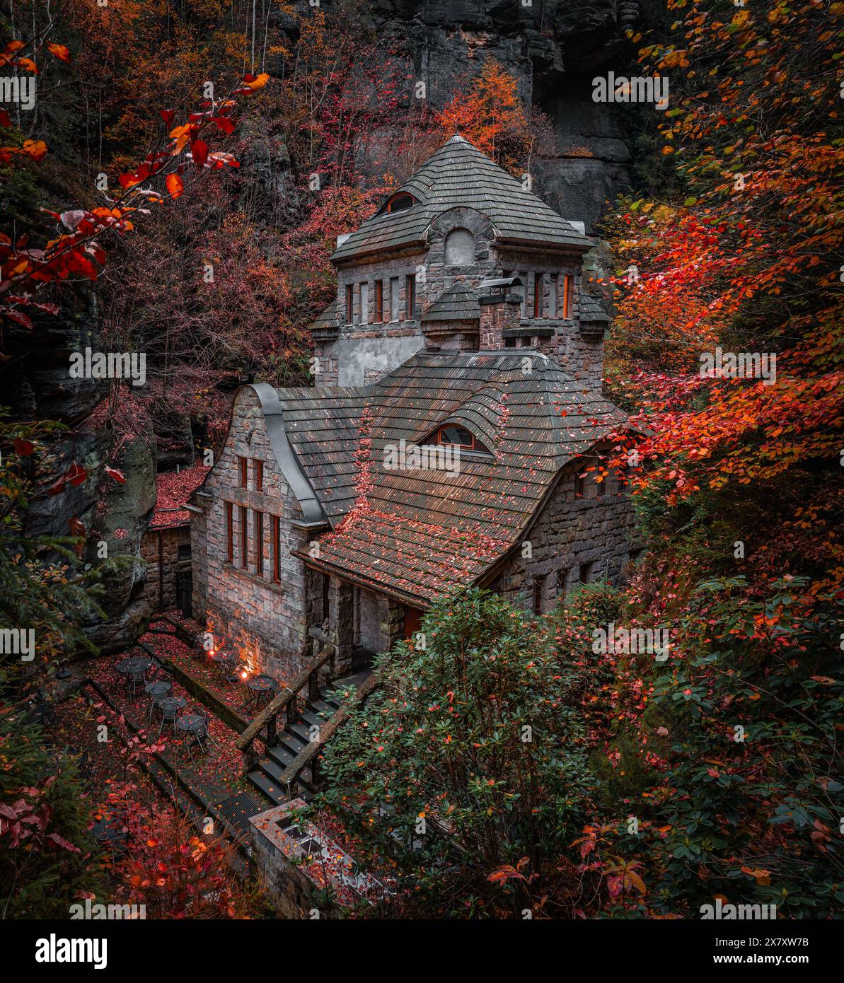
[{"label": "rough stone side wall under the curved eave, right of the house", "polygon": [[533,608],[534,582],[538,579],[543,612],[552,610],[586,564],[591,564],[589,580],[600,574],[612,583],[626,579],[631,553],[637,546],[633,505],[613,476],[600,483],[606,485],[601,493],[595,472],[586,474],[578,493],[577,476],[590,463],[580,458],[563,469],[558,485],[526,534],[530,555],[523,555],[528,550],[519,549],[494,585],[515,607]]}]

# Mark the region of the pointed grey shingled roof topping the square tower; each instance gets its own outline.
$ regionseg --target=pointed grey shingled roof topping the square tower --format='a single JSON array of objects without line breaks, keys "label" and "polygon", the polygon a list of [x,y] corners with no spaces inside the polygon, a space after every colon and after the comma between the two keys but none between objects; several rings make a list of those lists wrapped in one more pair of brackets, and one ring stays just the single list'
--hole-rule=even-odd
[{"label": "pointed grey shingled roof topping the square tower", "polygon": [[[550,245],[585,251],[591,243],[521,182],[477,147],[455,136],[401,186],[416,203],[404,211],[380,211],[353,232],[332,260],[386,249],[422,246],[434,219],[454,207],[486,215],[502,242]],[[384,206],[382,205],[382,208]]]}]

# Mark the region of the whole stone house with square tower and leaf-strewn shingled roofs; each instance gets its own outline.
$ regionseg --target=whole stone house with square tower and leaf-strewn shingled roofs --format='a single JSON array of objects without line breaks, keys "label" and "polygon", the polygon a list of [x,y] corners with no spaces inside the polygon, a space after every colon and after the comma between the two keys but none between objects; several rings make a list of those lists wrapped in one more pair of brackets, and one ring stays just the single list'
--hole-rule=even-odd
[{"label": "whole stone house with square tower and leaf-strewn shingled roofs", "polygon": [[312,327],[317,384],[243,386],[192,513],[195,616],[254,668],[334,671],[455,585],[537,614],[623,576],[633,515],[595,469],[609,318],[591,242],[455,136],[349,236]]}]

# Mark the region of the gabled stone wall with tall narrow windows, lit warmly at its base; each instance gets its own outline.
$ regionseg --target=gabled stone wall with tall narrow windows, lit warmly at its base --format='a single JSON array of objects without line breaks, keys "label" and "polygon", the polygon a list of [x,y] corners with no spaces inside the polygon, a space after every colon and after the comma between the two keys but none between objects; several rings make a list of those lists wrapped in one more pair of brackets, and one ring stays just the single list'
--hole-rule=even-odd
[{"label": "gabled stone wall with tall narrow windows, lit warmly at its base", "polygon": [[[246,489],[239,487],[238,456],[249,461]],[[264,463],[262,492],[255,488],[256,460]],[[229,434],[204,491],[211,498],[197,499],[203,503],[204,514],[195,516],[191,523],[194,617],[202,620],[205,612],[208,626],[231,641],[252,667],[274,676],[289,676],[312,655],[305,565],[291,555],[293,549],[305,548],[310,537],[294,525],[302,519],[301,509],[275,462],[258,397],[248,387],[235,398]],[[227,558],[226,501],[233,506],[233,562]],[[246,568],[241,562],[239,506],[248,510]],[[263,574],[258,572],[256,561],[256,510],[264,513]],[[280,520],[277,583],[272,580],[272,516]]]}]

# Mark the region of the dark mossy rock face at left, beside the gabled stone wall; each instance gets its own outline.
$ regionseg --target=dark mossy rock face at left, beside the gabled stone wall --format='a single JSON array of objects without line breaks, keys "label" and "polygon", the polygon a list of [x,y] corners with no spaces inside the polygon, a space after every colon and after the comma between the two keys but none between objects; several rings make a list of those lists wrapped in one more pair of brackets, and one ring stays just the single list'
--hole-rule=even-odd
[{"label": "dark mossy rock face at left, beside the gabled stone wall", "polygon": [[[4,373],[4,402],[14,418],[58,421],[66,428],[50,441],[47,453],[32,462],[37,491],[30,499],[26,531],[30,536],[68,536],[69,520],[79,518],[88,534],[84,558],[93,564],[101,553],[100,543],[106,544],[109,556],[140,555],[155,502],[147,415],[132,414],[132,426],[118,428],[115,423],[122,401],[117,406],[108,404],[108,383],[70,375],[72,352],[87,346],[102,350],[96,325],[94,295],[68,292],[58,318],[42,318],[32,331],[10,332],[10,359]],[[60,494],[49,494],[48,489],[74,462],[89,477],[80,485],[68,485]],[[126,483],[107,478],[101,467],[104,463],[120,470]],[[104,581],[105,592],[98,601],[106,619],[86,628],[103,652],[131,645],[149,620],[143,581],[140,562],[127,563]]]}]

